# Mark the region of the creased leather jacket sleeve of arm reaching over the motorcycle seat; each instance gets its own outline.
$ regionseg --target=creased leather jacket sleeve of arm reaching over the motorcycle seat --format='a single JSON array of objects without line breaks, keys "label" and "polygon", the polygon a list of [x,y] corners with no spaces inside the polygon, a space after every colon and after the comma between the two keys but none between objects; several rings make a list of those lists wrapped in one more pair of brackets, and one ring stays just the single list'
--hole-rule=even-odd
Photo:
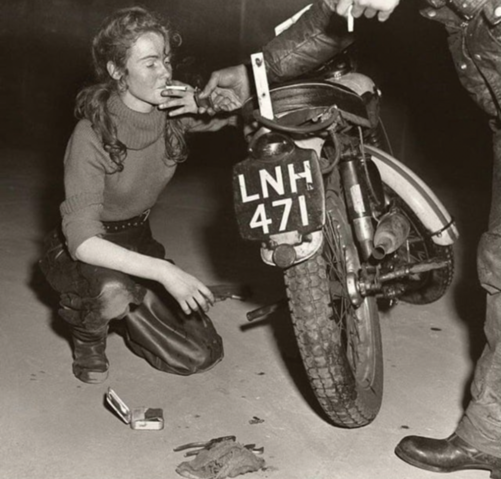
[{"label": "creased leather jacket sleeve of arm reaching over the motorcycle seat", "polygon": [[316,0],[299,20],[263,48],[270,83],[286,81],[322,65],[353,43],[338,0]]}]

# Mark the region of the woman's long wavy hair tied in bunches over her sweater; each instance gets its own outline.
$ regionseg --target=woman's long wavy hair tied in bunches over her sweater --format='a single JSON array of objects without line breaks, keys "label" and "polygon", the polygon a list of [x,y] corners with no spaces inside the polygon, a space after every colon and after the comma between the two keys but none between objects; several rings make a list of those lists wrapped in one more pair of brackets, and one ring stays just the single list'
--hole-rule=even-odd
[{"label": "woman's long wavy hair tied in bunches over her sweater", "polygon": [[[141,35],[150,32],[163,36],[172,46],[181,43],[180,36],[171,33],[169,26],[156,14],[141,7],[121,9],[108,17],[92,42],[92,59],[98,83],[84,88],[77,95],[75,115],[92,123],[115,165],[114,171],[123,170],[127,147],[117,137],[107,101],[112,93],[125,88],[125,82],[123,77],[114,80],[108,73],[107,64],[111,61],[119,70],[125,71],[129,49]],[[166,119],[165,148],[169,159],[176,162],[186,159],[184,132],[177,119]]]}]

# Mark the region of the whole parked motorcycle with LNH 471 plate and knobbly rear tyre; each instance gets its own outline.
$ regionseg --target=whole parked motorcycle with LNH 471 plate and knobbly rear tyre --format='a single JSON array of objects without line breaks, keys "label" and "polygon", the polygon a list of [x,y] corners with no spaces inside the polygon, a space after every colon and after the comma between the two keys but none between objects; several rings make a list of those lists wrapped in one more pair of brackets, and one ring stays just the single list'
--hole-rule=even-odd
[{"label": "whole parked motorcycle with LNH 471 plate and knobbly rear tyre", "polygon": [[353,428],[381,407],[379,307],[441,298],[458,232],[431,189],[390,154],[373,81],[346,59],[316,74],[270,89],[273,115],[263,114],[260,95],[243,105],[254,131],[233,168],[234,209],[241,237],[283,270],[318,402],[332,424]]}]

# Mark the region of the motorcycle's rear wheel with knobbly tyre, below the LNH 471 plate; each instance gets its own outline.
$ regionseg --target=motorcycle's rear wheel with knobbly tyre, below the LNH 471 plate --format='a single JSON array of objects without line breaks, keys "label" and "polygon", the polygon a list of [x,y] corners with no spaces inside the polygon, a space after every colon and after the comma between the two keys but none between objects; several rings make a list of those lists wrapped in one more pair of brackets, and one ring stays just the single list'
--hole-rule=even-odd
[{"label": "motorcycle's rear wheel with knobbly tyre, below the LNH 471 plate", "polygon": [[383,395],[383,354],[375,298],[356,307],[347,274],[360,259],[344,201],[326,192],[324,246],[285,271],[294,330],[311,387],[330,422],[360,427],[376,417]]}]

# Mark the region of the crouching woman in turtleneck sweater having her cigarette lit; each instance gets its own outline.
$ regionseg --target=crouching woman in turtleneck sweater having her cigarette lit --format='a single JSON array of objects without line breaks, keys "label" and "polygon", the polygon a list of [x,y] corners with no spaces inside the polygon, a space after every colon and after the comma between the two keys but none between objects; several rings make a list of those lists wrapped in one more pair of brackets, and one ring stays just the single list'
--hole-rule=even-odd
[{"label": "crouching woman in turtleneck sweater having her cigarette lit", "polygon": [[[115,12],[93,40],[97,83],[77,97],[80,121],[64,158],[62,223],[48,237],[40,266],[60,294],[59,314],[73,339],[73,373],[87,383],[107,378],[113,319],[126,319],[129,346],[163,371],[204,371],[223,355],[205,314],[211,291],[164,259],[148,222],[186,158],[185,134],[234,122],[185,115],[197,106],[192,87],[169,91],[180,85],[172,80],[175,39],[147,10]],[[158,108],[166,91],[176,118]]]}]

